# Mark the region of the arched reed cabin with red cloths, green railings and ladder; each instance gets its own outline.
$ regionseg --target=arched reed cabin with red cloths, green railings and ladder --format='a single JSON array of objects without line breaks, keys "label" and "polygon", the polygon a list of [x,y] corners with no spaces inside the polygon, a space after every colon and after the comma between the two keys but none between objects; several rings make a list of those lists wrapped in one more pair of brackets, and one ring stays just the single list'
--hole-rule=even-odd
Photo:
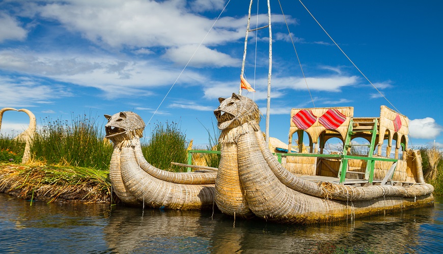
[{"label": "arched reed cabin with red cloths, green railings and ladder", "polygon": [[[353,107],[292,109],[288,153],[276,156],[286,169],[308,180],[362,186],[424,183],[420,151],[407,149],[406,116],[386,106],[380,107],[379,117],[353,114]],[[309,147],[303,151],[306,136]],[[325,144],[331,138],[343,142],[343,151],[326,152]],[[352,142],[355,138],[369,143]],[[297,142],[293,144],[293,140]],[[382,156],[385,140],[387,147]],[[359,147],[367,148],[367,154],[355,154]],[[393,148],[394,158],[391,158]]]}]

